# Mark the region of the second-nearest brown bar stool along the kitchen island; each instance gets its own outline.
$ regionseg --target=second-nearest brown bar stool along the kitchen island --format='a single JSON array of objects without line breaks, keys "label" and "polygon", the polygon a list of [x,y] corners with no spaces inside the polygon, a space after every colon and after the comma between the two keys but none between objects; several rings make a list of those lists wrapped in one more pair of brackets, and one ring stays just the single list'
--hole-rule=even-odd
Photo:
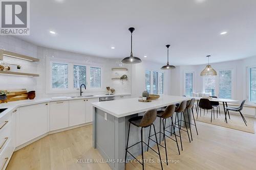
[{"label": "second-nearest brown bar stool along the kitchen island", "polygon": [[[161,126],[160,126],[160,131],[157,132],[157,134],[158,134],[158,133],[159,133],[159,134],[162,133],[162,134],[163,134],[163,139],[164,139],[164,146],[161,145],[160,142],[159,142],[159,145],[165,149],[165,156],[166,156],[166,163],[167,163],[167,165],[168,165],[168,161],[167,161],[168,158],[167,158],[167,147],[166,147],[166,141],[165,141],[165,136],[167,136],[167,135],[165,134],[165,131],[168,132],[168,133],[170,133],[170,134],[174,134],[174,135],[175,135],[175,139],[173,139],[173,138],[171,138],[171,137],[169,137],[169,136],[167,136],[167,137],[170,138],[170,139],[172,139],[172,140],[174,140],[174,141],[176,141],[177,148],[178,148],[179,155],[180,155],[180,149],[179,149],[178,140],[177,140],[175,131],[174,131],[174,132],[169,132],[169,131],[167,131],[166,128],[165,128],[166,119],[167,119],[167,118],[171,118],[171,119],[172,119],[172,120],[171,120],[171,121],[172,121],[172,125],[170,125],[170,126],[172,126],[172,127],[174,128],[174,123],[173,123],[173,114],[174,114],[174,112],[175,112],[175,105],[169,105],[169,106],[166,107],[165,110],[158,110],[158,111],[157,111],[157,117],[159,117],[159,123],[160,123],[160,125],[161,125],[161,118],[162,118],[162,123],[163,123],[163,132],[161,132]],[[150,128],[150,132],[151,132],[151,128]],[[148,135],[147,151],[148,151],[148,146],[149,146],[149,144],[150,144],[150,140],[156,142],[155,140],[151,139],[152,136],[154,136],[154,135],[150,135],[150,134]],[[160,136],[160,140],[161,140],[161,136]]]}]

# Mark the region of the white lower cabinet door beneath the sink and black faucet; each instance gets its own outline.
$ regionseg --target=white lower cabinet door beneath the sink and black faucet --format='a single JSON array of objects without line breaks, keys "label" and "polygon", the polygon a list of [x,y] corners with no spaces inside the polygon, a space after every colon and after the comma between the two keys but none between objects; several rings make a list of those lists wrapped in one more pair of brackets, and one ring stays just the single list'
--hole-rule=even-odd
[{"label": "white lower cabinet door beneath the sink and black faucet", "polygon": [[69,101],[69,126],[86,123],[86,99]]}]

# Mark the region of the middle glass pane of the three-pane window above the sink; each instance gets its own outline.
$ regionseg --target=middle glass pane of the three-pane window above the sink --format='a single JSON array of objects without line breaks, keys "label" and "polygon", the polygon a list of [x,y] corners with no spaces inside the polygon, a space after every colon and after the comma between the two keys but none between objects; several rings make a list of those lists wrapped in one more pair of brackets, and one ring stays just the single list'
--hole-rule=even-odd
[{"label": "middle glass pane of the three-pane window above the sink", "polygon": [[74,88],[86,84],[86,66],[74,65]]}]

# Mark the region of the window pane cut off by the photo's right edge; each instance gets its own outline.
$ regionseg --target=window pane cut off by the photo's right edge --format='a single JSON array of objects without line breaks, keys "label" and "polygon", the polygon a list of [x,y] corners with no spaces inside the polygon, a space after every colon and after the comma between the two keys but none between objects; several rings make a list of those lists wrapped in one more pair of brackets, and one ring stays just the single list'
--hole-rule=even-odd
[{"label": "window pane cut off by the photo's right edge", "polygon": [[249,68],[249,101],[256,103],[256,67]]}]

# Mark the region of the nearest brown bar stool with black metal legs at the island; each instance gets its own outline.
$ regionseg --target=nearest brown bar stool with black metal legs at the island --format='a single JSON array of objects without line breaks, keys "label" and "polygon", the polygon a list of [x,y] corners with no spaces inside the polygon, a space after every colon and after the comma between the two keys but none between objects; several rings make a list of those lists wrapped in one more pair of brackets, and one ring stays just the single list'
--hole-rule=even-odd
[{"label": "nearest brown bar stool with black metal legs at the island", "polygon": [[[128,149],[131,148],[131,147],[134,147],[136,144],[139,144],[141,143],[141,155],[142,155],[142,163],[136,159],[141,165],[142,165],[142,169],[144,170],[144,157],[143,157],[143,143],[146,144],[144,141],[143,141],[143,128],[147,128],[147,127],[150,127],[151,129],[151,126],[153,125],[154,127],[154,131],[155,131],[155,137],[156,137],[156,143],[157,143],[157,150],[158,150],[158,153],[153,150],[151,147],[150,149],[152,149],[155,153],[157,153],[159,155],[159,159],[160,159],[160,163],[161,163],[161,168],[163,169],[163,165],[162,165],[162,160],[161,160],[161,155],[160,155],[160,151],[159,151],[159,147],[158,147],[158,142],[157,142],[157,135],[156,135],[156,129],[155,129],[155,125],[153,124],[153,122],[156,120],[157,118],[157,110],[156,109],[152,109],[152,110],[148,110],[145,112],[145,114],[143,116],[136,116],[136,117],[132,117],[130,118],[128,121],[129,121],[129,130],[128,130],[128,137],[127,137],[127,144],[126,144],[126,149],[125,149],[125,163],[124,165],[126,165],[126,157],[127,157],[127,153],[129,153],[134,159],[136,159],[129,151]],[[140,130],[140,136],[141,136],[141,141],[131,145],[130,147],[128,147],[128,142],[129,142],[129,135],[130,135],[130,127],[131,127],[131,124],[133,124],[134,126],[138,127],[138,128],[141,128]],[[147,147],[148,144],[146,144]]]}]

